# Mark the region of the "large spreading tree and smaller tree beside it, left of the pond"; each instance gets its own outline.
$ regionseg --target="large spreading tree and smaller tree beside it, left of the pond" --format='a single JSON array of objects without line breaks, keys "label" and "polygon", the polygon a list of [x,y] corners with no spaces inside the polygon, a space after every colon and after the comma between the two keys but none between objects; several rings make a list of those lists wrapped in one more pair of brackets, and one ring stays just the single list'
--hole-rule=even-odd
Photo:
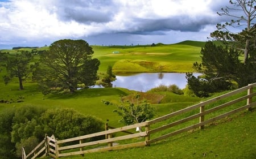
[{"label": "large spreading tree and smaller tree beside it, left of the pond", "polygon": [[15,55],[1,53],[1,66],[6,68],[5,84],[19,79],[23,81],[32,75],[44,94],[51,92],[75,92],[77,87],[89,88],[98,80],[100,61],[92,58],[93,50],[84,40],[59,40],[40,53],[39,62],[32,62],[32,54],[21,50]]}]

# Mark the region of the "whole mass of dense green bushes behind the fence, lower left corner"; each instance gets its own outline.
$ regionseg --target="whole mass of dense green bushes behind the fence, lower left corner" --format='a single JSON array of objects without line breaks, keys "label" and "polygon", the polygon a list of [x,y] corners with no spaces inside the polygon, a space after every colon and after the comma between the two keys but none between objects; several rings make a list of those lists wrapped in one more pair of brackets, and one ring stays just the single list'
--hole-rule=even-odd
[{"label": "whole mass of dense green bushes behind the fence, lower left corner", "polygon": [[[72,109],[42,109],[35,106],[0,112],[0,158],[21,157],[21,148],[32,151],[46,134],[58,139],[104,130],[104,122]],[[94,140],[94,139],[93,139]]]}]

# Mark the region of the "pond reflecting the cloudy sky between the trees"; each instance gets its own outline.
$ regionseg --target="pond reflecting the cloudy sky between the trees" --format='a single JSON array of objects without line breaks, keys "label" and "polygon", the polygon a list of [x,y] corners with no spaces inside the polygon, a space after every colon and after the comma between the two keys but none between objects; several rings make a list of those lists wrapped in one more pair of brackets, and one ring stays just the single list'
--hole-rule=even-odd
[{"label": "pond reflecting the cloudy sky between the trees", "polygon": [[[142,73],[130,76],[116,76],[113,87],[122,87],[135,91],[146,92],[159,85],[176,84],[180,89],[185,88],[187,79],[185,73]],[[193,74],[199,76],[199,73]]]}]

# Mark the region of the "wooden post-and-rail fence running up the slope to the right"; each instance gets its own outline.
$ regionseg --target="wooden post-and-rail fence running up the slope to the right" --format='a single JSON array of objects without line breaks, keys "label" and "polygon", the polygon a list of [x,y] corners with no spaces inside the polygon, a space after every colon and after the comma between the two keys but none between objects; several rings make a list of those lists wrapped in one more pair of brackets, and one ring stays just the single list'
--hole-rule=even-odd
[{"label": "wooden post-and-rail fence running up the slope to the right", "polygon": [[[65,140],[57,140],[53,135],[51,137],[46,135],[45,139],[27,155],[23,148],[22,158],[42,156],[59,158],[150,145],[189,130],[204,128],[206,124],[226,118],[238,111],[250,110],[256,105],[256,92],[253,92],[255,86],[256,83],[249,84],[236,91],[143,123],[119,128],[106,125],[106,131]],[[227,97],[232,100],[228,101]],[[138,127],[141,131],[135,131]]]}]

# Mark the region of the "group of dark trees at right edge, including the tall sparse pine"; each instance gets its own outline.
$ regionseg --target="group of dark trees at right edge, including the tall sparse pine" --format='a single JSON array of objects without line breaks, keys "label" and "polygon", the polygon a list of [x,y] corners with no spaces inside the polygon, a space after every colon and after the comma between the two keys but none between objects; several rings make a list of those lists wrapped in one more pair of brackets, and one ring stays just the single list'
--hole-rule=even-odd
[{"label": "group of dark trees at right edge, including the tall sparse pine", "polygon": [[[234,7],[221,8],[222,12],[217,14],[232,20],[217,24],[217,30],[210,33],[214,41],[208,41],[201,49],[201,63],[193,64],[195,71],[203,76],[195,77],[191,73],[186,76],[189,89],[196,96],[205,97],[256,81],[256,2],[236,0],[230,4]],[[238,16],[236,11],[243,15]],[[232,28],[242,29],[232,32]]]}]

